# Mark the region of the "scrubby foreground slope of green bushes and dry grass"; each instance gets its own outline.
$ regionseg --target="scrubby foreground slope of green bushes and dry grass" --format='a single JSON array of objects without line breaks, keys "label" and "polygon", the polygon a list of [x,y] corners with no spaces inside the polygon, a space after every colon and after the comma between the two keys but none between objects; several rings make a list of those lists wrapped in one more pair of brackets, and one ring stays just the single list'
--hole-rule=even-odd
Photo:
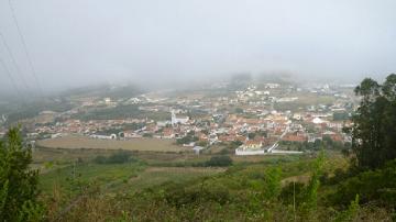
[{"label": "scrubby foreground slope of green bushes and dry grass", "polygon": [[[340,185],[322,177],[324,157],[294,162],[284,167],[233,166],[223,174],[177,184],[167,182],[141,192],[120,191],[109,196],[100,189],[87,189],[72,207],[54,208],[51,220],[62,221],[392,221],[394,206],[356,184],[384,186],[396,165],[375,175],[360,173]],[[294,181],[297,174],[308,181]],[[394,174],[394,173],[393,173]],[[331,178],[337,180],[337,178]],[[322,182],[321,182],[322,181]],[[377,184],[375,182],[377,181]],[[389,181],[386,189],[395,189]],[[356,189],[356,190],[353,190]],[[330,191],[327,191],[330,190]],[[343,200],[340,201],[340,197]],[[388,197],[388,196],[387,196]],[[64,209],[67,209],[65,211]],[[59,218],[58,212],[62,212]],[[54,217],[54,218],[51,218]]]}]

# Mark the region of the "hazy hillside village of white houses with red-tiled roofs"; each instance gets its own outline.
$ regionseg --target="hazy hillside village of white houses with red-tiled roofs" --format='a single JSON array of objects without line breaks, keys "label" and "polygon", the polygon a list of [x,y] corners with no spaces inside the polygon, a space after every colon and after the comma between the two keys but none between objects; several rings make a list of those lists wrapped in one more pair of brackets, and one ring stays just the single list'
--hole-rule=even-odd
[{"label": "hazy hillside village of white houses with red-tiled roofs", "polygon": [[[213,85],[208,91],[224,88],[227,85]],[[237,155],[295,154],[306,149],[307,144],[323,140],[340,146],[351,142],[342,132],[351,124],[349,118],[354,109],[351,89],[264,84],[219,96],[189,91],[183,97],[157,92],[117,100],[85,97],[75,100],[78,106],[65,112],[45,110],[23,121],[29,123],[28,137],[33,142],[70,134],[96,140],[156,137],[176,140],[186,149],[210,149],[231,143]],[[133,108],[139,114],[128,115],[128,110],[127,114],[122,110],[111,114],[119,108]],[[110,113],[109,119],[81,118],[99,111]]]}]

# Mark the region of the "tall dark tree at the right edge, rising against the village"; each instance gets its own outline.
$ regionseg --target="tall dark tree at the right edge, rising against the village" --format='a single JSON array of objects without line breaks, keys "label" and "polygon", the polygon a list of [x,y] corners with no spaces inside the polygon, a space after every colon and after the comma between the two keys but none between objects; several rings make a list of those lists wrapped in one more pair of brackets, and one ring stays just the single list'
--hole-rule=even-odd
[{"label": "tall dark tree at the right edge, rising against the village", "polygon": [[352,149],[359,167],[376,168],[396,158],[396,75],[383,86],[366,78],[354,91],[362,100],[352,116]]}]

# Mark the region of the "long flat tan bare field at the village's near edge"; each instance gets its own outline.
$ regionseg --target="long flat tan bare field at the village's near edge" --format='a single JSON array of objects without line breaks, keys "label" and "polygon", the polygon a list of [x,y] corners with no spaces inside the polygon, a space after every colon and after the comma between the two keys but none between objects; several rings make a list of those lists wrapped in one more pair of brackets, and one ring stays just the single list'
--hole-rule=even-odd
[{"label": "long flat tan bare field at the village's near edge", "polygon": [[64,136],[38,141],[37,145],[51,148],[96,148],[96,149],[125,149],[151,152],[183,152],[188,148],[177,146],[174,140],[132,138],[128,141],[99,140],[86,136]]}]

